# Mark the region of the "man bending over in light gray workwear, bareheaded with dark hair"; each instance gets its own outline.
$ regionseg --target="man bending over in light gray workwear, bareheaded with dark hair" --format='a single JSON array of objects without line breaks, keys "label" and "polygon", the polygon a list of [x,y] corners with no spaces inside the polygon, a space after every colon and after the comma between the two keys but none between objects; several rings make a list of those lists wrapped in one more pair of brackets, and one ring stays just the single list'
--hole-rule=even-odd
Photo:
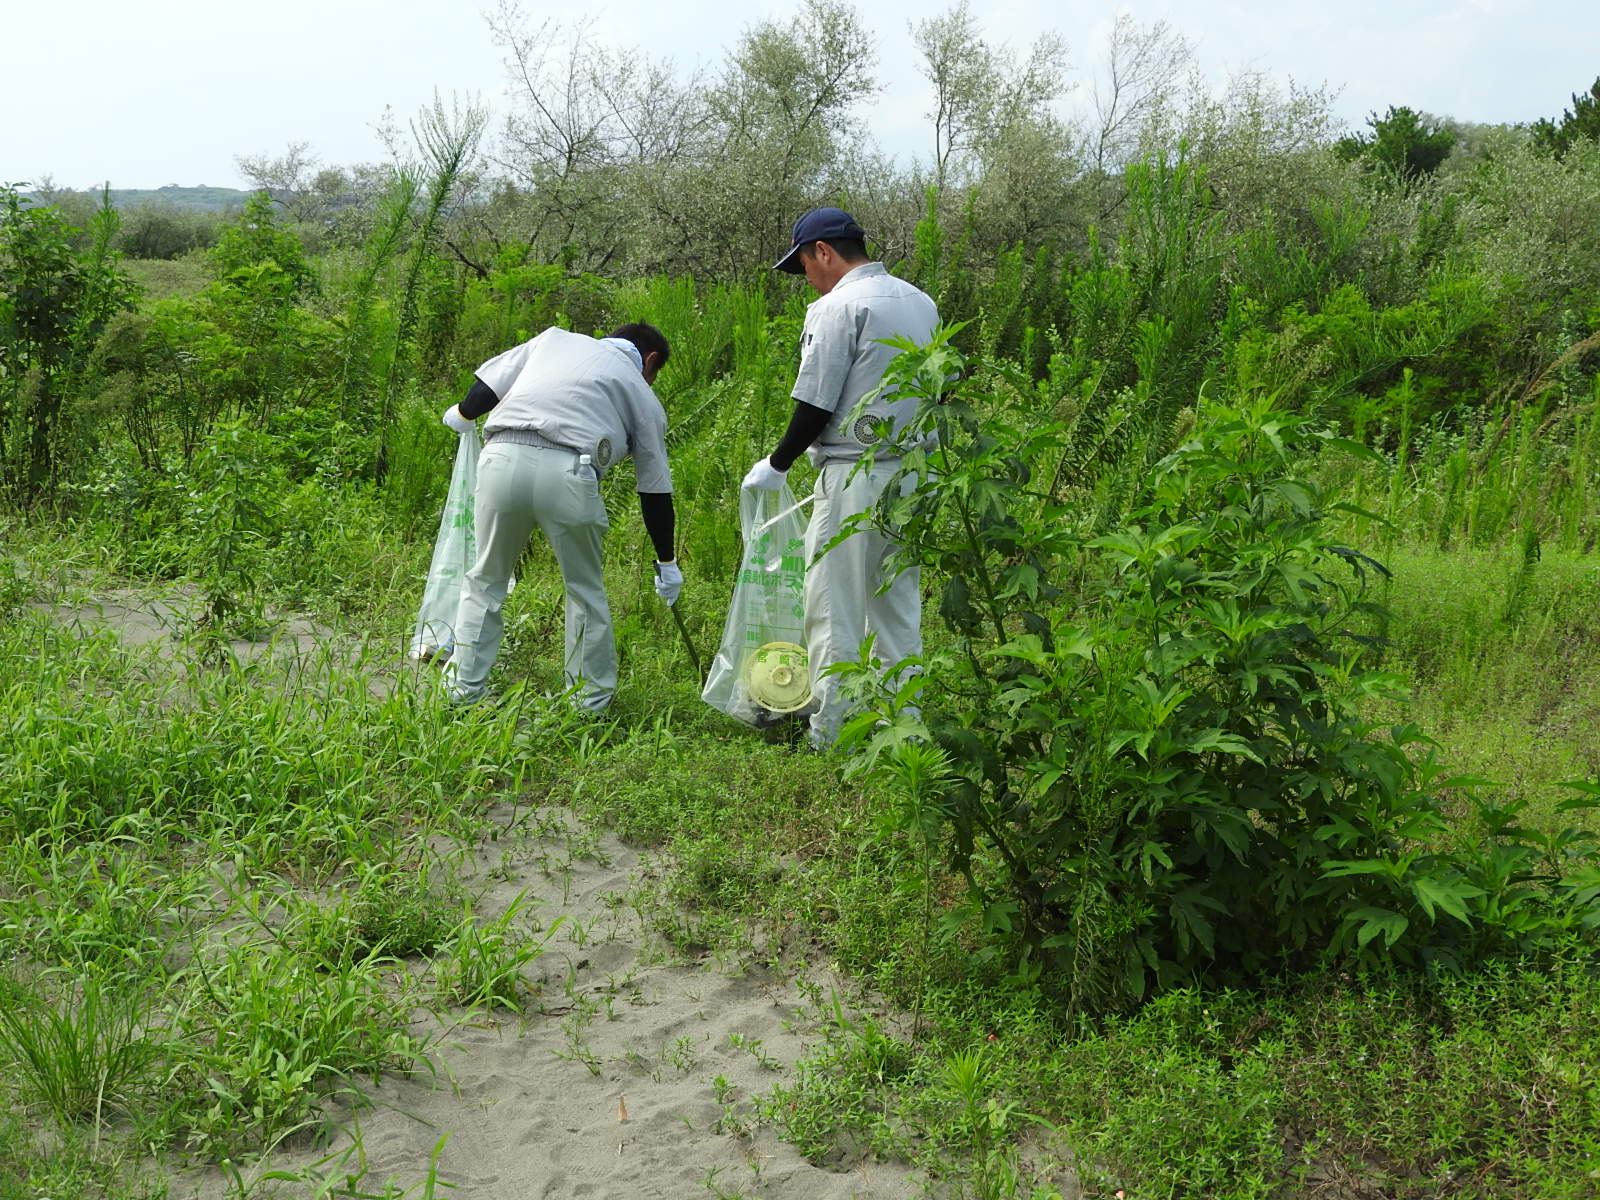
[{"label": "man bending over in light gray workwear, bareheaded with dark hair", "polygon": [[483,363],[466,398],[445,413],[456,432],[490,414],[474,512],[477,562],[461,586],[456,650],[445,667],[454,702],[486,694],[501,605],[534,525],[549,538],[566,586],[566,686],[589,712],[611,702],[616,643],[600,573],[608,525],[600,480],[629,454],[656,550],[656,595],[669,605],[678,598],[667,414],[651,390],[667,354],[653,325],[624,325],[598,339],[549,328]]}]

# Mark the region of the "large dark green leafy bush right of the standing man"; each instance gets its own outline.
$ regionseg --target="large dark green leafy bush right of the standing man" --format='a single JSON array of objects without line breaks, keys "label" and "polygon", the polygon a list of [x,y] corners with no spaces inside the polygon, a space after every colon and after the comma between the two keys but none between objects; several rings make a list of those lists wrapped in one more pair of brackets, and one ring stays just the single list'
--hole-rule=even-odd
[{"label": "large dark green leafy bush right of the standing man", "polygon": [[1197,973],[1459,968],[1595,918],[1600,856],[1576,830],[1544,842],[1490,803],[1480,846],[1435,848],[1440,794],[1474,781],[1363,717],[1397,686],[1360,667],[1382,568],[1333,539],[1338,506],[1298,470],[1325,434],[1208,402],[1096,536],[1051,470],[1061,426],[947,390],[942,338],[902,349],[896,386],[925,397],[902,448],[938,434],[904,474],[939,486],[890,488],[864,520],[946,581],[955,645],[846,738],[890,773],[912,736],[947,755],[957,918],[982,954],[1011,946],[1024,979],[1101,1011]]}]

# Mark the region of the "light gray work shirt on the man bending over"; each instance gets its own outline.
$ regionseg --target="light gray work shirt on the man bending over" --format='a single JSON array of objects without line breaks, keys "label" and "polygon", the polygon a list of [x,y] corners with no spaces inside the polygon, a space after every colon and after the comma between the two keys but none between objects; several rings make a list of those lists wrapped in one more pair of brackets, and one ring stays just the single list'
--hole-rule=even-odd
[{"label": "light gray work shirt on the man bending over", "polygon": [[474,374],[499,397],[485,437],[533,430],[589,454],[602,475],[632,454],[640,491],[672,491],[667,413],[624,347],[552,326]]}]

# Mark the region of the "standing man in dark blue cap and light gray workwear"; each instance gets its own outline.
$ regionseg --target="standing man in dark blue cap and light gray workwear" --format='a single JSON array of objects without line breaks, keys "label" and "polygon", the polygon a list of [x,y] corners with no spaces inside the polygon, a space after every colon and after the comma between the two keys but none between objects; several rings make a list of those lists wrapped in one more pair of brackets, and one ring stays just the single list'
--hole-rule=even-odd
[{"label": "standing man in dark blue cap and light gray workwear", "polygon": [[915,397],[878,395],[856,413],[862,397],[883,382],[898,354],[883,338],[933,339],[939,312],[910,283],[867,259],[866,234],[850,213],[814,208],[794,227],[794,243],[774,267],[805,275],[819,298],[806,309],[800,336],[794,416],[768,458],[744,477],[746,488],[776,491],[800,453],[818,467],[816,501],[806,528],[805,640],[811,667],[811,746],[838,739],[845,706],[838,678],[822,672],[854,659],[867,634],[885,662],[922,653],[922,590],[915,566],[901,571],[886,592],[883,568],[896,542],[877,530],[858,530],[818,558],[858,512],[872,509],[899,469],[898,458],[878,456],[870,470],[851,477],[861,453],[877,440],[882,421],[899,434],[917,414]]}]

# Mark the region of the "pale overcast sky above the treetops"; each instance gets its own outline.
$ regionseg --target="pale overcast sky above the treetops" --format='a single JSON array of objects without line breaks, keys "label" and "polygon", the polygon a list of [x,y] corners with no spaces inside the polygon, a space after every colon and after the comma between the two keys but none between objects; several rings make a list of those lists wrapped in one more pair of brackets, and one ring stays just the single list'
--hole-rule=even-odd
[{"label": "pale overcast sky above the treetops", "polygon": [[[90,187],[245,186],[235,157],[309,142],[323,163],[384,157],[374,125],[402,123],[435,88],[477,93],[499,114],[506,72],[483,0],[0,0],[0,182]],[[798,3],[525,0],[544,16],[600,18],[597,35],[715,66],[741,29]],[[907,26],[949,3],[859,2],[877,34],[874,136],[926,154],[926,83]],[[1086,88],[1118,11],[1166,21],[1197,46],[1206,77],[1254,69],[1328,85],[1360,126],[1390,104],[1470,122],[1555,117],[1600,74],[1595,0],[971,0],[990,42],[1059,32]],[[733,22],[730,22],[730,14]]]}]

